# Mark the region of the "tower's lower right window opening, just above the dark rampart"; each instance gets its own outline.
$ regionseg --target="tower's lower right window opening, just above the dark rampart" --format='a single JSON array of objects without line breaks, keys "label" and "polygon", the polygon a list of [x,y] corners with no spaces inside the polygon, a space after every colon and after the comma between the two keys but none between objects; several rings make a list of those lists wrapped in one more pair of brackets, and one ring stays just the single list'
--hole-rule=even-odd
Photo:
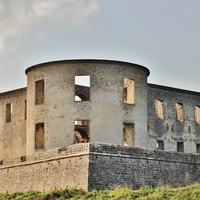
[{"label": "tower's lower right window opening, just above the dark rampart", "polygon": [[134,124],[123,124],[123,146],[134,146]]}]

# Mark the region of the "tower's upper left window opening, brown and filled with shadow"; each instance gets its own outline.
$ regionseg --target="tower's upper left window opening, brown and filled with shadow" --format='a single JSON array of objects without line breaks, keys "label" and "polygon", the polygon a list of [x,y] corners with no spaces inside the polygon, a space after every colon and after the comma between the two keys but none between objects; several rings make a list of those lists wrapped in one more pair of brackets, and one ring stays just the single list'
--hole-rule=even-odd
[{"label": "tower's upper left window opening, brown and filled with shadow", "polygon": [[44,80],[35,82],[35,104],[44,103]]}]

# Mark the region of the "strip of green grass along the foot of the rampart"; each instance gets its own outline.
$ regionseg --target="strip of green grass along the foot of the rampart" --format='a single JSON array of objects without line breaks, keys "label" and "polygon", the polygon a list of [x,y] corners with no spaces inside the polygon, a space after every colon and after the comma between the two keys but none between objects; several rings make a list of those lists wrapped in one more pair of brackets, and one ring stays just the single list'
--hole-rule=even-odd
[{"label": "strip of green grass along the foot of the rampart", "polygon": [[186,187],[171,188],[160,186],[157,188],[142,187],[132,190],[128,187],[116,187],[113,190],[93,190],[84,192],[77,189],[60,189],[52,192],[15,192],[0,194],[0,200],[200,200],[200,183]]}]

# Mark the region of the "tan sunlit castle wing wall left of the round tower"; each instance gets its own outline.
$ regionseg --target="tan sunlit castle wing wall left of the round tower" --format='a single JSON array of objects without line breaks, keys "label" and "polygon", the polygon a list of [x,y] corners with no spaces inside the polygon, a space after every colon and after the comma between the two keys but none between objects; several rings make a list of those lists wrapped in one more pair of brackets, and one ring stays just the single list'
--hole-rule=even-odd
[{"label": "tan sunlit castle wing wall left of the round tower", "polygon": [[26,155],[26,88],[0,94],[0,160]]}]

